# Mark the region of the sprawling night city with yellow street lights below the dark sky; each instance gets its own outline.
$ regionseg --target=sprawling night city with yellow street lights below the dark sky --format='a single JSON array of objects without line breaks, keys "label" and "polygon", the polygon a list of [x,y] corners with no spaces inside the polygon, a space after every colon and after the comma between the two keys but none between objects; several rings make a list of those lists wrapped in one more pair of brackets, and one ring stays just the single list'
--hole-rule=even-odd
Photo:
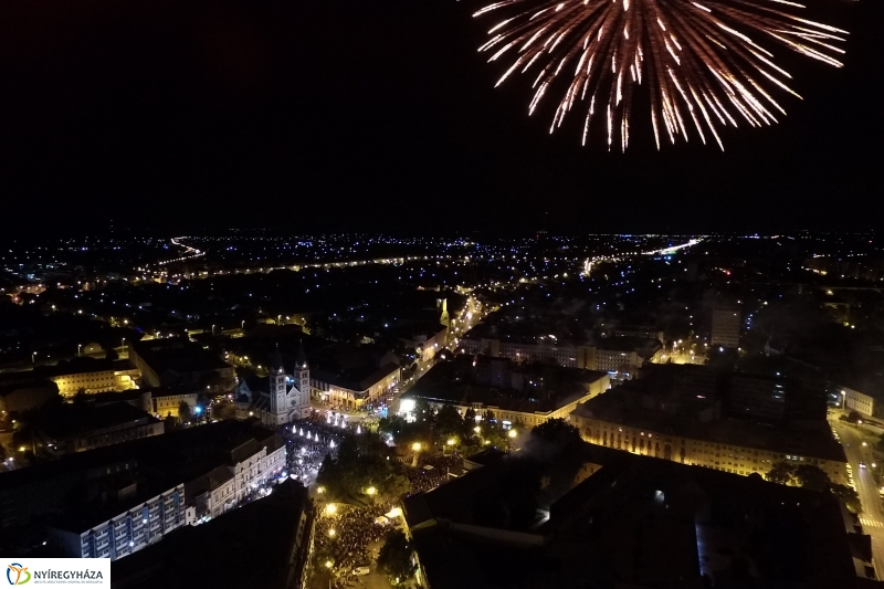
[{"label": "sprawling night city with yellow street lights below the dark sky", "polygon": [[15,562],[107,558],[135,589],[882,585],[875,232],[33,238],[0,251]]}]

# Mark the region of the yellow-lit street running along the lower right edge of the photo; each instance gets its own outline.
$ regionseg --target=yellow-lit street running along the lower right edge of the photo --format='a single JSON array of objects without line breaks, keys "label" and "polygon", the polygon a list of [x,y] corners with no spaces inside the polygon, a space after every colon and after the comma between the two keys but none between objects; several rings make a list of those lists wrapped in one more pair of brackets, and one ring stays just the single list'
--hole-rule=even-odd
[{"label": "yellow-lit street running along the lower right edge of the photo", "polygon": [[852,427],[836,420],[831,420],[829,423],[834,427],[841,438],[848,462],[853,469],[856,492],[863,504],[860,522],[863,525],[863,532],[872,536],[872,554],[875,559],[875,570],[880,575],[884,570],[882,569],[884,567],[884,508],[881,505],[877,485],[872,478],[872,474],[866,469],[860,469],[860,462],[865,462],[866,466],[871,466],[872,450],[863,448],[860,435]]}]

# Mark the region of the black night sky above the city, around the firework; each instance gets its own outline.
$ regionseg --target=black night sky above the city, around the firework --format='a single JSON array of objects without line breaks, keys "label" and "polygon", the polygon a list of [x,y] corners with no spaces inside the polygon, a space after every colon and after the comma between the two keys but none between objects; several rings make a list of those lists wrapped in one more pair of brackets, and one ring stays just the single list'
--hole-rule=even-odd
[{"label": "black night sky above the city, around the firework", "polygon": [[884,3],[809,3],[846,67],[776,50],[779,126],[621,155],[493,88],[484,0],[2,2],[3,230],[875,227]]}]

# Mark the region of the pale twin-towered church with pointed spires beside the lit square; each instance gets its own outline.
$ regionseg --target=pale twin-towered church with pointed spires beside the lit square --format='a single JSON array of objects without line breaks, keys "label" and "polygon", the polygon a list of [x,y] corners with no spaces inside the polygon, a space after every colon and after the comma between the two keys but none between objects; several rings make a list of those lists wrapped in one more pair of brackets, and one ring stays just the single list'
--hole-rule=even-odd
[{"label": "pale twin-towered church with pointed spires beside the lit square", "polygon": [[270,428],[311,414],[311,370],[304,347],[298,348],[294,370],[285,369],[276,348],[270,374],[246,377],[236,387],[236,418],[255,417]]}]

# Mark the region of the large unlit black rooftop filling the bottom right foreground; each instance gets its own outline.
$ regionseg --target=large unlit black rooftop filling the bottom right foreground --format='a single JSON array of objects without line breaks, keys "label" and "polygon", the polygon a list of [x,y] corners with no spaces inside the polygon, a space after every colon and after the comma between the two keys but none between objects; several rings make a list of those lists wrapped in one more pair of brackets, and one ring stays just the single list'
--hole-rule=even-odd
[{"label": "large unlit black rooftop filling the bottom right foreground", "polygon": [[475,517],[476,497],[506,480],[505,465],[409,497],[406,517],[430,586],[539,589],[593,579],[599,588],[697,589],[705,575],[716,587],[857,587],[832,495],[598,450],[591,459],[601,467],[551,503],[548,520],[528,530],[534,543]]}]

